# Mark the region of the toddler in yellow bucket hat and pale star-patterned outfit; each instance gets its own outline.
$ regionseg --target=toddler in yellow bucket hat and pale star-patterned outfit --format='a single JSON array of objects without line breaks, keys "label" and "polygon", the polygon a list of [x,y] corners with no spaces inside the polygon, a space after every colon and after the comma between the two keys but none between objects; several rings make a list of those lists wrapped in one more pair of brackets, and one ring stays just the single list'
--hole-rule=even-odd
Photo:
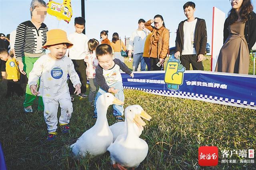
[{"label": "toddler in yellow bucket hat and pale star-patterned outfit", "polygon": [[[73,112],[72,102],[68,89],[67,77],[74,84],[74,93],[80,94],[81,82],[74,69],[74,64],[67,56],[67,48],[72,47],[68,41],[66,32],[61,29],[52,29],[46,33],[47,41],[43,48],[50,50],[49,54],[40,57],[34,63],[29,74],[28,85],[33,95],[42,96],[44,102],[44,120],[48,127],[47,141],[55,140],[57,133],[57,112],[61,107],[59,118],[62,133],[68,133],[68,123]],[[37,80],[40,78],[40,88],[37,91]]]}]

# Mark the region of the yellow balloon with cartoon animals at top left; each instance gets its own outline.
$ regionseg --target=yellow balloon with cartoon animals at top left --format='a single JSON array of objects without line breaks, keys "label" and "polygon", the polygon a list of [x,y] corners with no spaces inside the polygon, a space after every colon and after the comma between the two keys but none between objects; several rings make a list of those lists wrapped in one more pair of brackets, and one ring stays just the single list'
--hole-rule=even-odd
[{"label": "yellow balloon with cartoon animals at top left", "polygon": [[48,14],[56,16],[58,20],[64,20],[69,23],[72,17],[72,7],[70,0],[63,0],[63,4],[49,0],[47,6]]}]

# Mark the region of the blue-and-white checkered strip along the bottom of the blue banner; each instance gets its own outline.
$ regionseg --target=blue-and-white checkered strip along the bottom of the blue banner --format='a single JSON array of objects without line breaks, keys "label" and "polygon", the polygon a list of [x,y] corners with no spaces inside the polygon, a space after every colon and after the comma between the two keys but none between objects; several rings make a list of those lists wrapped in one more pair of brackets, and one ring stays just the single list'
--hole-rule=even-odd
[{"label": "blue-and-white checkered strip along the bottom of the blue banner", "polygon": [[169,91],[169,90],[152,90],[152,89],[134,88],[134,87],[128,87],[128,86],[124,86],[124,88],[141,90],[144,92],[148,92],[151,94],[157,94],[157,95],[161,95],[161,96],[171,96],[171,97],[187,98],[187,99],[193,99],[193,100],[202,100],[205,102],[256,109],[256,103],[248,102],[248,101],[234,100],[234,99],[222,98],[222,97],[216,97],[216,96],[208,96],[208,95],[202,95],[202,94],[196,94],[196,93],[190,93],[190,92],[178,92],[178,91]]}]

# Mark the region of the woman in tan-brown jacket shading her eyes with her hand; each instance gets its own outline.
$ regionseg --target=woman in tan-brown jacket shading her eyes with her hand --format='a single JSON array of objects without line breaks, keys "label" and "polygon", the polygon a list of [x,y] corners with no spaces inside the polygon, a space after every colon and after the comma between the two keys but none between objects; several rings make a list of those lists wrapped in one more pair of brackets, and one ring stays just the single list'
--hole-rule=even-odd
[{"label": "woman in tan-brown jacket shading her eyes with her hand", "polygon": [[[154,26],[151,26],[153,22]],[[162,70],[169,48],[169,30],[165,27],[161,15],[156,15],[153,20],[147,21],[145,27],[152,32],[149,45],[151,70]]]}]

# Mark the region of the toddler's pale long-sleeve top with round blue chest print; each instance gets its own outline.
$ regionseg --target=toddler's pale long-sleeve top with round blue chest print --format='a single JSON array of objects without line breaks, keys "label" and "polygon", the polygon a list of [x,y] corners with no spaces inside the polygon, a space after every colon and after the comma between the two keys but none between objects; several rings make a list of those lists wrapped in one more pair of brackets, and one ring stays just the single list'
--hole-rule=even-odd
[{"label": "toddler's pale long-sleeve top with round blue chest print", "polygon": [[62,59],[54,60],[46,54],[34,63],[33,69],[29,73],[28,85],[36,85],[40,78],[40,94],[38,96],[54,99],[63,93],[69,93],[68,74],[74,87],[76,84],[81,84],[69,57],[64,56]]}]

